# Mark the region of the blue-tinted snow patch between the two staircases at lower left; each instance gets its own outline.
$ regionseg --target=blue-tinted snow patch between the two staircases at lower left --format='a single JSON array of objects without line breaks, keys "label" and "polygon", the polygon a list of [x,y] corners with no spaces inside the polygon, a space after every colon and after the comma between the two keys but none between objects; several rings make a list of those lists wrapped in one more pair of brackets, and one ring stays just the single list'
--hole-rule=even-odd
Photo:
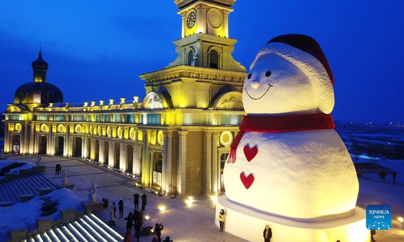
[{"label": "blue-tinted snow patch between the two staircases at lower left", "polygon": [[9,237],[8,231],[10,227],[27,226],[28,231],[32,230],[36,225],[35,218],[41,216],[41,204],[44,202],[43,198],[58,201],[57,211],[52,215],[54,219],[60,215],[58,209],[60,208],[75,208],[76,211],[81,211],[82,199],[75,195],[72,191],[64,188],[44,196],[35,197],[24,203],[17,203],[9,207],[0,207],[0,241],[3,238]]}]

